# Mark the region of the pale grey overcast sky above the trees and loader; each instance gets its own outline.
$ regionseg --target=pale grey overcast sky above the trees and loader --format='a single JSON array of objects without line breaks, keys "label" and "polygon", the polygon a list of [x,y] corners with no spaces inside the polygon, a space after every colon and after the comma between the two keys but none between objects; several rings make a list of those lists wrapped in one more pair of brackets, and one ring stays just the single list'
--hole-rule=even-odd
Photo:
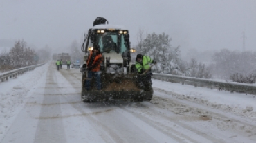
[{"label": "pale grey overcast sky above the trees and loader", "polygon": [[165,32],[181,51],[256,50],[256,0],[0,0],[0,39],[67,47],[83,38],[96,17],[129,29]]}]

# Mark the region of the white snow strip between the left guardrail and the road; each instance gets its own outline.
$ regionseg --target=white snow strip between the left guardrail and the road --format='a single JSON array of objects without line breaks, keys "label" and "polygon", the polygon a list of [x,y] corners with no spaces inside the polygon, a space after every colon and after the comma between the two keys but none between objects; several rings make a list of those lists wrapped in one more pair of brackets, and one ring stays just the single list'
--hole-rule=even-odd
[{"label": "white snow strip between the left guardrail and the road", "polygon": [[26,104],[28,93],[35,90],[38,83],[44,82],[40,80],[45,80],[48,65],[49,63],[46,63],[17,78],[0,83],[0,140]]}]

